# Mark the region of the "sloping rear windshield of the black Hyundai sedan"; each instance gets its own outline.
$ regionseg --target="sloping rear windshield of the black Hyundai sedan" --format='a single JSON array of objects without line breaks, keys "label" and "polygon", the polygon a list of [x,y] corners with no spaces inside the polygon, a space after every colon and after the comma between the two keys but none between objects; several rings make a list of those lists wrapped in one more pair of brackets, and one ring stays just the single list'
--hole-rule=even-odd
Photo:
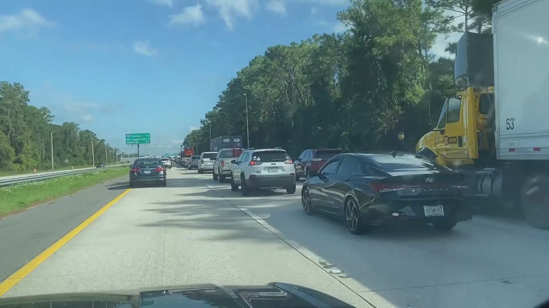
[{"label": "sloping rear windshield of the black Hyundai sedan", "polygon": [[384,172],[406,172],[406,171],[421,171],[421,170],[444,170],[450,171],[437,163],[429,161],[422,156],[412,154],[399,154],[393,157],[390,154],[380,154],[368,156],[372,159],[372,166]]}]

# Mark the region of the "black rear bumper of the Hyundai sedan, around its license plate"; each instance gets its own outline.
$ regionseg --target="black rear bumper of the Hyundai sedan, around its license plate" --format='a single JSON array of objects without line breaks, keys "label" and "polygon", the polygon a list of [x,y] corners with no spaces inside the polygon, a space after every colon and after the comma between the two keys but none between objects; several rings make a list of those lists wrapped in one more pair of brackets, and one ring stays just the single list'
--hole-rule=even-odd
[{"label": "black rear bumper of the Hyundai sedan, around its license plate", "polygon": [[[442,205],[444,216],[425,216],[423,206]],[[394,215],[396,213],[398,215]],[[424,204],[376,204],[365,207],[361,211],[361,216],[367,224],[380,225],[399,223],[404,221],[422,221],[430,223],[432,221],[450,219],[456,222],[466,221],[473,218],[473,212],[470,204],[463,200],[439,200],[429,201]]]}]

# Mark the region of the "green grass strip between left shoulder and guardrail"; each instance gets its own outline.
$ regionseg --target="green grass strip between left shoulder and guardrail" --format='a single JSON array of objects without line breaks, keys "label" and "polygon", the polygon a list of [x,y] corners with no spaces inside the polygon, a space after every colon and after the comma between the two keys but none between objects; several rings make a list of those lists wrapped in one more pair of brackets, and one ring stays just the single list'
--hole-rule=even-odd
[{"label": "green grass strip between left shoulder and guardrail", "polygon": [[0,187],[0,217],[127,174],[120,167]]}]

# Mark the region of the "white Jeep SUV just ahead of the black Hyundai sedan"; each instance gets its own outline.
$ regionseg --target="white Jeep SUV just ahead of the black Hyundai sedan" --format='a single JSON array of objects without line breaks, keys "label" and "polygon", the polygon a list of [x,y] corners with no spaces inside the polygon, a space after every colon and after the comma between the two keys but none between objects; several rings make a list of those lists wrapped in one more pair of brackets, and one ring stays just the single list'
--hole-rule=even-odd
[{"label": "white Jeep SUV just ahead of the black Hyundai sedan", "polygon": [[295,167],[281,147],[246,149],[231,163],[231,190],[237,191],[240,186],[242,196],[260,188],[281,188],[295,193]]}]

